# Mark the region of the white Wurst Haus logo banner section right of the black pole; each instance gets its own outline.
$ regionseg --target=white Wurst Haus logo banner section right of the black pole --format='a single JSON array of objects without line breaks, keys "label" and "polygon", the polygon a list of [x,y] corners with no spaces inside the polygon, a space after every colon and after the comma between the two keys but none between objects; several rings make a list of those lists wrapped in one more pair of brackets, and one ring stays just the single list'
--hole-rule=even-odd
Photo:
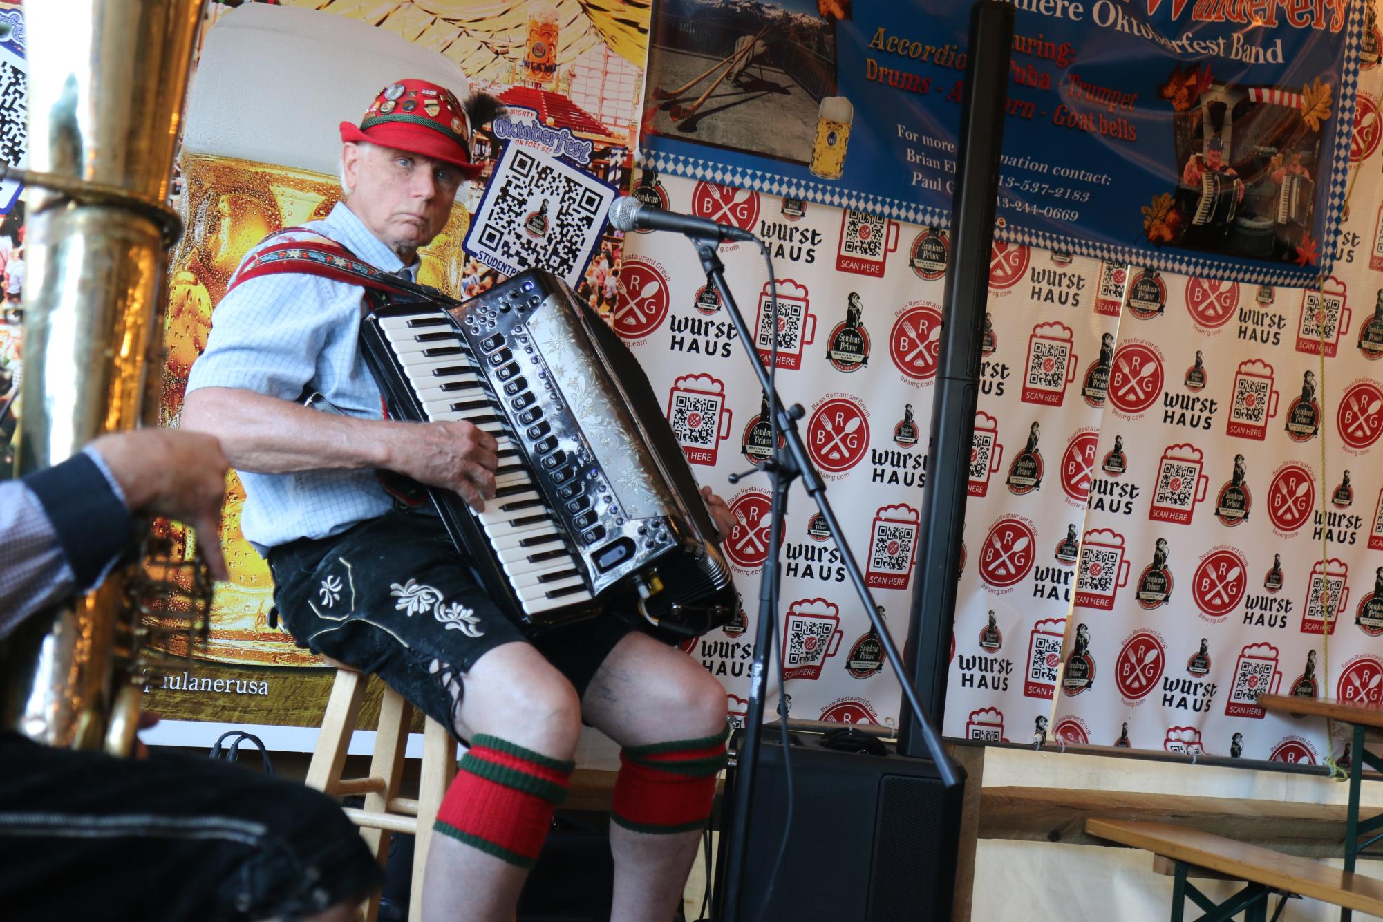
[{"label": "white Wurst Haus logo banner section right of the black pole", "polygon": [[[947,735],[1350,758],[1257,699],[1383,688],[1383,189],[1359,153],[1315,289],[996,245]],[[1068,350],[1079,393],[1039,419],[1033,375],[1057,387]]]}]

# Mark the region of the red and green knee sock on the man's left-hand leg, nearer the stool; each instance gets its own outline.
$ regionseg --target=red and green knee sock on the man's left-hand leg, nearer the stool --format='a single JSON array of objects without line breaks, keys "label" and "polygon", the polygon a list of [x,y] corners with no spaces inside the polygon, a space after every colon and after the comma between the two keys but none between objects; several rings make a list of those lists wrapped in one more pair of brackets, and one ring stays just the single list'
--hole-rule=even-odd
[{"label": "red and green knee sock on the man's left-hand leg, nearer the stool", "polygon": [[470,741],[433,829],[520,868],[538,860],[574,762],[484,734]]}]

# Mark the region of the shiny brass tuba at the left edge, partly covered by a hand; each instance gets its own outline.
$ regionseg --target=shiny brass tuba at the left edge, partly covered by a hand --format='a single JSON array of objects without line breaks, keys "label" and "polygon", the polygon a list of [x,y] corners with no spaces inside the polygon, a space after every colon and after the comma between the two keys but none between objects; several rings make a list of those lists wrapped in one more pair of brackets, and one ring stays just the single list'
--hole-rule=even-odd
[{"label": "shiny brass tuba at the left edge, partly covered by a hand", "polygon": [[[44,0],[25,8],[30,187],[19,473],[152,420],[166,205],[202,0]],[[0,726],[123,755],[148,664],[141,608],[201,619],[205,572],[141,567],[29,618],[0,658]],[[189,593],[191,590],[191,593]],[[191,650],[191,644],[188,644]]]}]

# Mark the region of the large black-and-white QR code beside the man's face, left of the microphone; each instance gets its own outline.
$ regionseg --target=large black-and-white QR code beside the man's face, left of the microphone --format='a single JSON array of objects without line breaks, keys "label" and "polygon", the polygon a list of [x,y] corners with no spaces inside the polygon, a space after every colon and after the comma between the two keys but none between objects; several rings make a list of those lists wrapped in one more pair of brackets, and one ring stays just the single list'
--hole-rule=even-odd
[{"label": "large black-and-white QR code beside the man's face, left of the microphone", "polygon": [[485,188],[466,252],[505,275],[544,268],[578,285],[614,189],[561,160],[510,142]]}]

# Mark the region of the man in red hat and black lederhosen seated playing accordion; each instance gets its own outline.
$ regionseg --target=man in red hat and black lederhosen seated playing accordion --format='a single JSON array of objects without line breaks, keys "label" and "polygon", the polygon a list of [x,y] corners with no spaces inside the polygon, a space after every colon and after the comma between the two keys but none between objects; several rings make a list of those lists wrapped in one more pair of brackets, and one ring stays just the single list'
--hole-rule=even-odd
[{"label": "man in red hat and black lederhosen seated playing accordion", "polygon": [[[342,202],[260,249],[326,238],[415,279],[418,249],[483,169],[472,131],[496,109],[423,80],[386,87],[358,126],[340,126]],[[441,521],[380,476],[455,491],[479,511],[495,495],[496,440],[467,422],[380,419],[358,348],[358,283],[307,270],[246,278],[245,267],[192,366],[183,426],[216,433],[241,473],[242,528],[270,561],[297,643],[379,675],[470,744],[437,818],[426,918],[512,918],[585,722],[622,746],[611,918],[671,919],[725,763],[725,691],[617,617],[527,640]],[[339,413],[301,405],[314,391]],[[705,495],[729,531],[723,500]]]}]

